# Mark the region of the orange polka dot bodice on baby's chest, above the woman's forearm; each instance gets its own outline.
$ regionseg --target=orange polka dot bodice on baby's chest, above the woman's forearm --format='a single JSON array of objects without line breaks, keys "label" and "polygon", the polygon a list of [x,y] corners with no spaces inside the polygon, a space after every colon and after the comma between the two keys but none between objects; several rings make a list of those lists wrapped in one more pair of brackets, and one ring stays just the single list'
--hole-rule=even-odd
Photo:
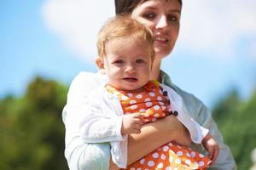
[{"label": "orange polka dot bodice on baby's chest, above the woman's forearm", "polygon": [[139,93],[117,90],[110,85],[106,88],[108,92],[119,98],[124,113],[140,112],[144,117],[144,123],[165,117],[170,111],[169,99],[160,94],[159,82],[149,81],[144,86],[143,92]]}]

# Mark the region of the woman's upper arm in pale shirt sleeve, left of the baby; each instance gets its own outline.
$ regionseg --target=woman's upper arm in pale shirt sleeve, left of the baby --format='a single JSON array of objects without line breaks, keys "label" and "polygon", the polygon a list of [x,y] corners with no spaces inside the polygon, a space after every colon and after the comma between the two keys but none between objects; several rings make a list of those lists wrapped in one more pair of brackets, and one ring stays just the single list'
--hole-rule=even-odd
[{"label": "woman's upper arm in pale shirt sleeve, left of the baby", "polygon": [[81,72],[68,90],[67,105],[62,112],[65,125],[65,157],[70,169],[101,169],[108,167],[108,147],[103,144],[85,144],[79,136],[79,107],[86,105],[90,92],[101,84],[104,77],[96,73]]}]

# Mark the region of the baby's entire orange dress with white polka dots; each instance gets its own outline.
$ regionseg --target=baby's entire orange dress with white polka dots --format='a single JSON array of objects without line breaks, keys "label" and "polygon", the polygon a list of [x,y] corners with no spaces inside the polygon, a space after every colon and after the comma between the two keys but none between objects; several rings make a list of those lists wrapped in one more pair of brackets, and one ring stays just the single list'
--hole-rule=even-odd
[{"label": "baby's entire orange dress with white polka dots", "polygon": [[[149,81],[143,90],[135,93],[117,90],[110,85],[107,85],[106,88],[108,92],[119,98],[124,114],[140,112],[143,115],[144,123],[154,122],[172,113],[170,100],[157,81]],[[203,156],[189,147],[170,142],[131,164],[127,169],[206,169],[210,162],[211,160],[207,156]]]}]

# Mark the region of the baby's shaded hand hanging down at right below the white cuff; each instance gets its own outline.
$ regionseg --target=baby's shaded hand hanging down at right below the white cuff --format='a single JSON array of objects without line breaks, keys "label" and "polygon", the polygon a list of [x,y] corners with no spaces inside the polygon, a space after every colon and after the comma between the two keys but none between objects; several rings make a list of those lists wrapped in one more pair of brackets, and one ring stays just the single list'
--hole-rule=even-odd
[{"label": "baby's shaded hand hanging down at right below the white cuff", "polygon": [[218,144],[217,142],[212,138],[212,135],[210,133],[207,133],[207,136],[202,139],[202,144],[204,145],[205,149],[208,151],[208,157],[212,160],[210,166],[214,164],[218,157]]}]

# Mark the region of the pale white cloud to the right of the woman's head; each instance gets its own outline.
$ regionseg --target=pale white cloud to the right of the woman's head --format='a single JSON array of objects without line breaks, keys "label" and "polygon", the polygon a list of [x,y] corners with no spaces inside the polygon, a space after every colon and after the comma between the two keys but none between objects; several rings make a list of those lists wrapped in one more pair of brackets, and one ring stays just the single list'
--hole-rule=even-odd
[{"label": "pale white cloud to the right of the woman's head", "polygon": [[255,8],[254,0],[185,1],[179,46],[212,56],[233,56],[241,37],[256,41]]}]

